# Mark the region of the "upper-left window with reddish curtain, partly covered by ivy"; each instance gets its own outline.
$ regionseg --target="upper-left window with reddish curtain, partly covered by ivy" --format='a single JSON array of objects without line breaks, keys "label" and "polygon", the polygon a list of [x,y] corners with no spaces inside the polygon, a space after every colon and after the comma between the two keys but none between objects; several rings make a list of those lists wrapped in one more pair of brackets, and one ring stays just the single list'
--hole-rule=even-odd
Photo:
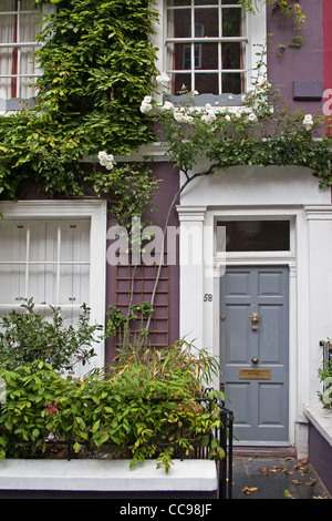
[{"label": "upper-left window with reddish curtain, partly covered by ivy", "polygon": [[39,75],[33,53],[42,13],[33,0],[1,0],[0,6],[0,110],[15,109],[17,99],[35,95]]}]

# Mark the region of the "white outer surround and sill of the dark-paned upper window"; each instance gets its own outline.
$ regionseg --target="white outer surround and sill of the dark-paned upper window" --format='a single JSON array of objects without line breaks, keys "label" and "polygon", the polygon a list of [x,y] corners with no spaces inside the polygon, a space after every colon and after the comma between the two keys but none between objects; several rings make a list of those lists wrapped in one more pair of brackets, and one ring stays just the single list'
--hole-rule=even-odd
[{"label": "white outer surround and sill of the dark-paned upper window", "polygon": [[[225,4],[226,6],[226,4]],[[154,47],[157,48],[157,69],[160,72],[167,71],[167,60],[166,60],[166,41],[167,41],[167,6],[166,0],[156,0],[156,9],[159,12],[159,21],[156,23],[155,27],[155,34],[152,37],[152,42]],[[252,75],[253,70],[257,68],[259,62],[263,64],[267,63],[264,57],[258,57],[257,53],[259,52],[257,47],[266,45],[267,42],[267,8],[264,2],[259,7],[256,13],[246,12],[246,39],[248,40],[248,52],[246,55],[246,73],[245,73],[245,92],[250,91],[252,89]],[[245,37],[243,37],[245,38]],[[185,41],[184,41],[185,43]],[[250,74],[250,71],[252,73]],[[260,73],[262,73],[263,68],[260,68]],[[225,105],[242,105],[241,96],[242,94],[235,94],[229,98],[229,93],[217,94],[212,95],[215,101],[218,101],[220,106]],[[168,92],[170,96],[170,101],[176,102],[176,100],[180,100],[181,96],[173,95]],[[210,102],[208,98],[209,94],[201,94],[195,96],[195,104],[196,105],[205,105],[207,102]],[[158,94],[158,102],[163,102],[163,94]]]}]

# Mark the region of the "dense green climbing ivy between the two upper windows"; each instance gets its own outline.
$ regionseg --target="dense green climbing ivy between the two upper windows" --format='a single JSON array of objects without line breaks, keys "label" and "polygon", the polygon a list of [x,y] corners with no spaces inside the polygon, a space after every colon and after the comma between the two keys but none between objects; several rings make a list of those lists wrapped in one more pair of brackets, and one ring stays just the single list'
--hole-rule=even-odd
[{"label": "dense green climbing ivy between the two upper windows", "polygon": [[[49,3],[35,0],[34,7]],[[24,184],[49,196],[81,195],[92,176],[82,161],[100,150],[126,155],[151,142],[139,112],[156,73],[147,0],[51,0],[39,34],[38,104],[0,116],[0,193]],[[137,176],[137,168],[136,168]],[[135,175],[133,174],[133,180]]]}]

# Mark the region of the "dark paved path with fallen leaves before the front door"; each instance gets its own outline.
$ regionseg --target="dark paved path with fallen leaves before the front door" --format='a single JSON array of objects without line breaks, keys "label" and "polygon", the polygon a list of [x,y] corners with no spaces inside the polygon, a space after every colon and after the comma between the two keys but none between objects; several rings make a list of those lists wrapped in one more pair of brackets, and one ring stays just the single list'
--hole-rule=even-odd
[{"label": "dark paved path with fallen leaves before the front door", "polygon": [[331,499],[309,459],[235,452],[232,499]]}]

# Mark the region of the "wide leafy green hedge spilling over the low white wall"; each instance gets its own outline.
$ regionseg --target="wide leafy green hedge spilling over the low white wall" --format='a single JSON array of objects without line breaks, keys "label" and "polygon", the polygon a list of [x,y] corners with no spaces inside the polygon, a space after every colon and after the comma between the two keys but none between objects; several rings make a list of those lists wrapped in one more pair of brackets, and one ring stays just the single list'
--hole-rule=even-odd
[{"label": "wide leafy green hedge spilling over the low white wall", "polygon": [[[197,356],[198,354],[198,356]],[[43,361],[14,371],[0,370],[7,400],[0,409],[0,456],[42,454],[46,441],[69,442],[74,452],[106,451],[137,460],[157,458],[168,470],[180,449],[209,446],[222,458],[214,429],[220,427],[217,403],[203,399],[201,378],[215,371],[215,360],[178,343],[144,359],[125,357],[106,372],[83,381],[56,375]],[[210,407],[211,405],[211,407]]]}]

